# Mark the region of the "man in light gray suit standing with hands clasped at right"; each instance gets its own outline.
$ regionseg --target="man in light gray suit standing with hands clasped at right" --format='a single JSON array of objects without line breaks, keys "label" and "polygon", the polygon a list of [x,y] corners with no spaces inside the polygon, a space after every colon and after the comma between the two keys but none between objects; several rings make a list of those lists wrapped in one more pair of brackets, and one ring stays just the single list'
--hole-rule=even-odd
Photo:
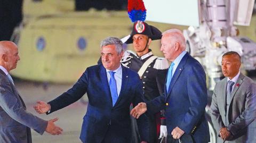
[{"label": "man in light gray suit standing with hands clasped at right", "polygon": [[256,85],[239,69],[241,57],[236,52],[222,56],[221,68],[226,77],[213,91],[211,119],[219,134],[217,142],[255,142]]}]

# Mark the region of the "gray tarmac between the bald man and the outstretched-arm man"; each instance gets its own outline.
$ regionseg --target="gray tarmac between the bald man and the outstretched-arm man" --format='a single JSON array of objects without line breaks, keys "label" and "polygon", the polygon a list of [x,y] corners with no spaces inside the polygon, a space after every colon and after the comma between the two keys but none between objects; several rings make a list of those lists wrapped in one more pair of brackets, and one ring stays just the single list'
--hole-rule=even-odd
[{"label": "gray tarmac between the bald man and the outstretched-arm man", "polygon": [[32,139],[34,143],[76,143],[81,142],[79,139],[83,116],[86,113],[87,104],[83,104],[80,100],[78,102],[63,108],[62,110],[53,112],[50,115],[37,114],[33,108],[37,100],[43,100],[49,102],[64,91],[68,90],[71,85],[60,85],[49,83],[45,89],[45,85],[42,83],[28,82],[14,80],[15,87],[20,92],[21,97],[25,101],[27,111],[37,115],[45,120],[54,119],[58,117],[59,120],[55,122],[59,127],[63,129],[63,132],[59,136],[52,136],[51,134],[44,132],[41,136],[34,130],[32,132]]}]

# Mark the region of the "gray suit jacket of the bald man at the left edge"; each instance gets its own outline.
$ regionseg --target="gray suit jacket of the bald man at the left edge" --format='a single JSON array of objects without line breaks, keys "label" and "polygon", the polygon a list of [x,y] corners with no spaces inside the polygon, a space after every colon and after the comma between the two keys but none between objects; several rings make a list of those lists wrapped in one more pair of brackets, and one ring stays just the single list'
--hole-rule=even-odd
[{"label": "gray suit jacket of the bald man at the left edge", "polygon": [[43,134],[47,121],[26,111],[18,91],[0,69],[0,142],[30,143],[31,131]]}]

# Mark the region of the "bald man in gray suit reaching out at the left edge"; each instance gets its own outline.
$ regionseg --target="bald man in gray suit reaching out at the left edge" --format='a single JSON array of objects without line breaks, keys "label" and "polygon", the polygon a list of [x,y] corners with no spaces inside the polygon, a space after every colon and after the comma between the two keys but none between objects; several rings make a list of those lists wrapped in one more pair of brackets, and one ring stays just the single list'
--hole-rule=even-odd
[{"label": "bald man in gray suit reaching out at the left edge", "polygon": [[9,74],[20,60],[17,46],[11,41],[0,41],[0,142],[30,143],[31,131],[39,134],[44,131],[53,135],[60,134],[62,129],[53,122],[45,121],[26,111],[26,106],[14,87]]}]

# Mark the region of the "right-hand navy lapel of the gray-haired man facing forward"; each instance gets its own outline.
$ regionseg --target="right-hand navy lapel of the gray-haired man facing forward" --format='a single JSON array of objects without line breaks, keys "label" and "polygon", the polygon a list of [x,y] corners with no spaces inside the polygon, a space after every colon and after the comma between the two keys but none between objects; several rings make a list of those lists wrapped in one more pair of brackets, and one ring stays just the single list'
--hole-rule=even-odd
[{"label": "right-hand navy lapel of the gray-haired man facing forward", "polygon": [[124,66],[122,66],[122,86],[121,86],[121,90],[120,90],[120,93],[119,93],[119,96],[117,98],[115,106],[121,101],[121,99],[125,95],[125,91],[126,91],[126,88],[127,88],[127,82],[128,82],[127,69],[124,68]]}]

